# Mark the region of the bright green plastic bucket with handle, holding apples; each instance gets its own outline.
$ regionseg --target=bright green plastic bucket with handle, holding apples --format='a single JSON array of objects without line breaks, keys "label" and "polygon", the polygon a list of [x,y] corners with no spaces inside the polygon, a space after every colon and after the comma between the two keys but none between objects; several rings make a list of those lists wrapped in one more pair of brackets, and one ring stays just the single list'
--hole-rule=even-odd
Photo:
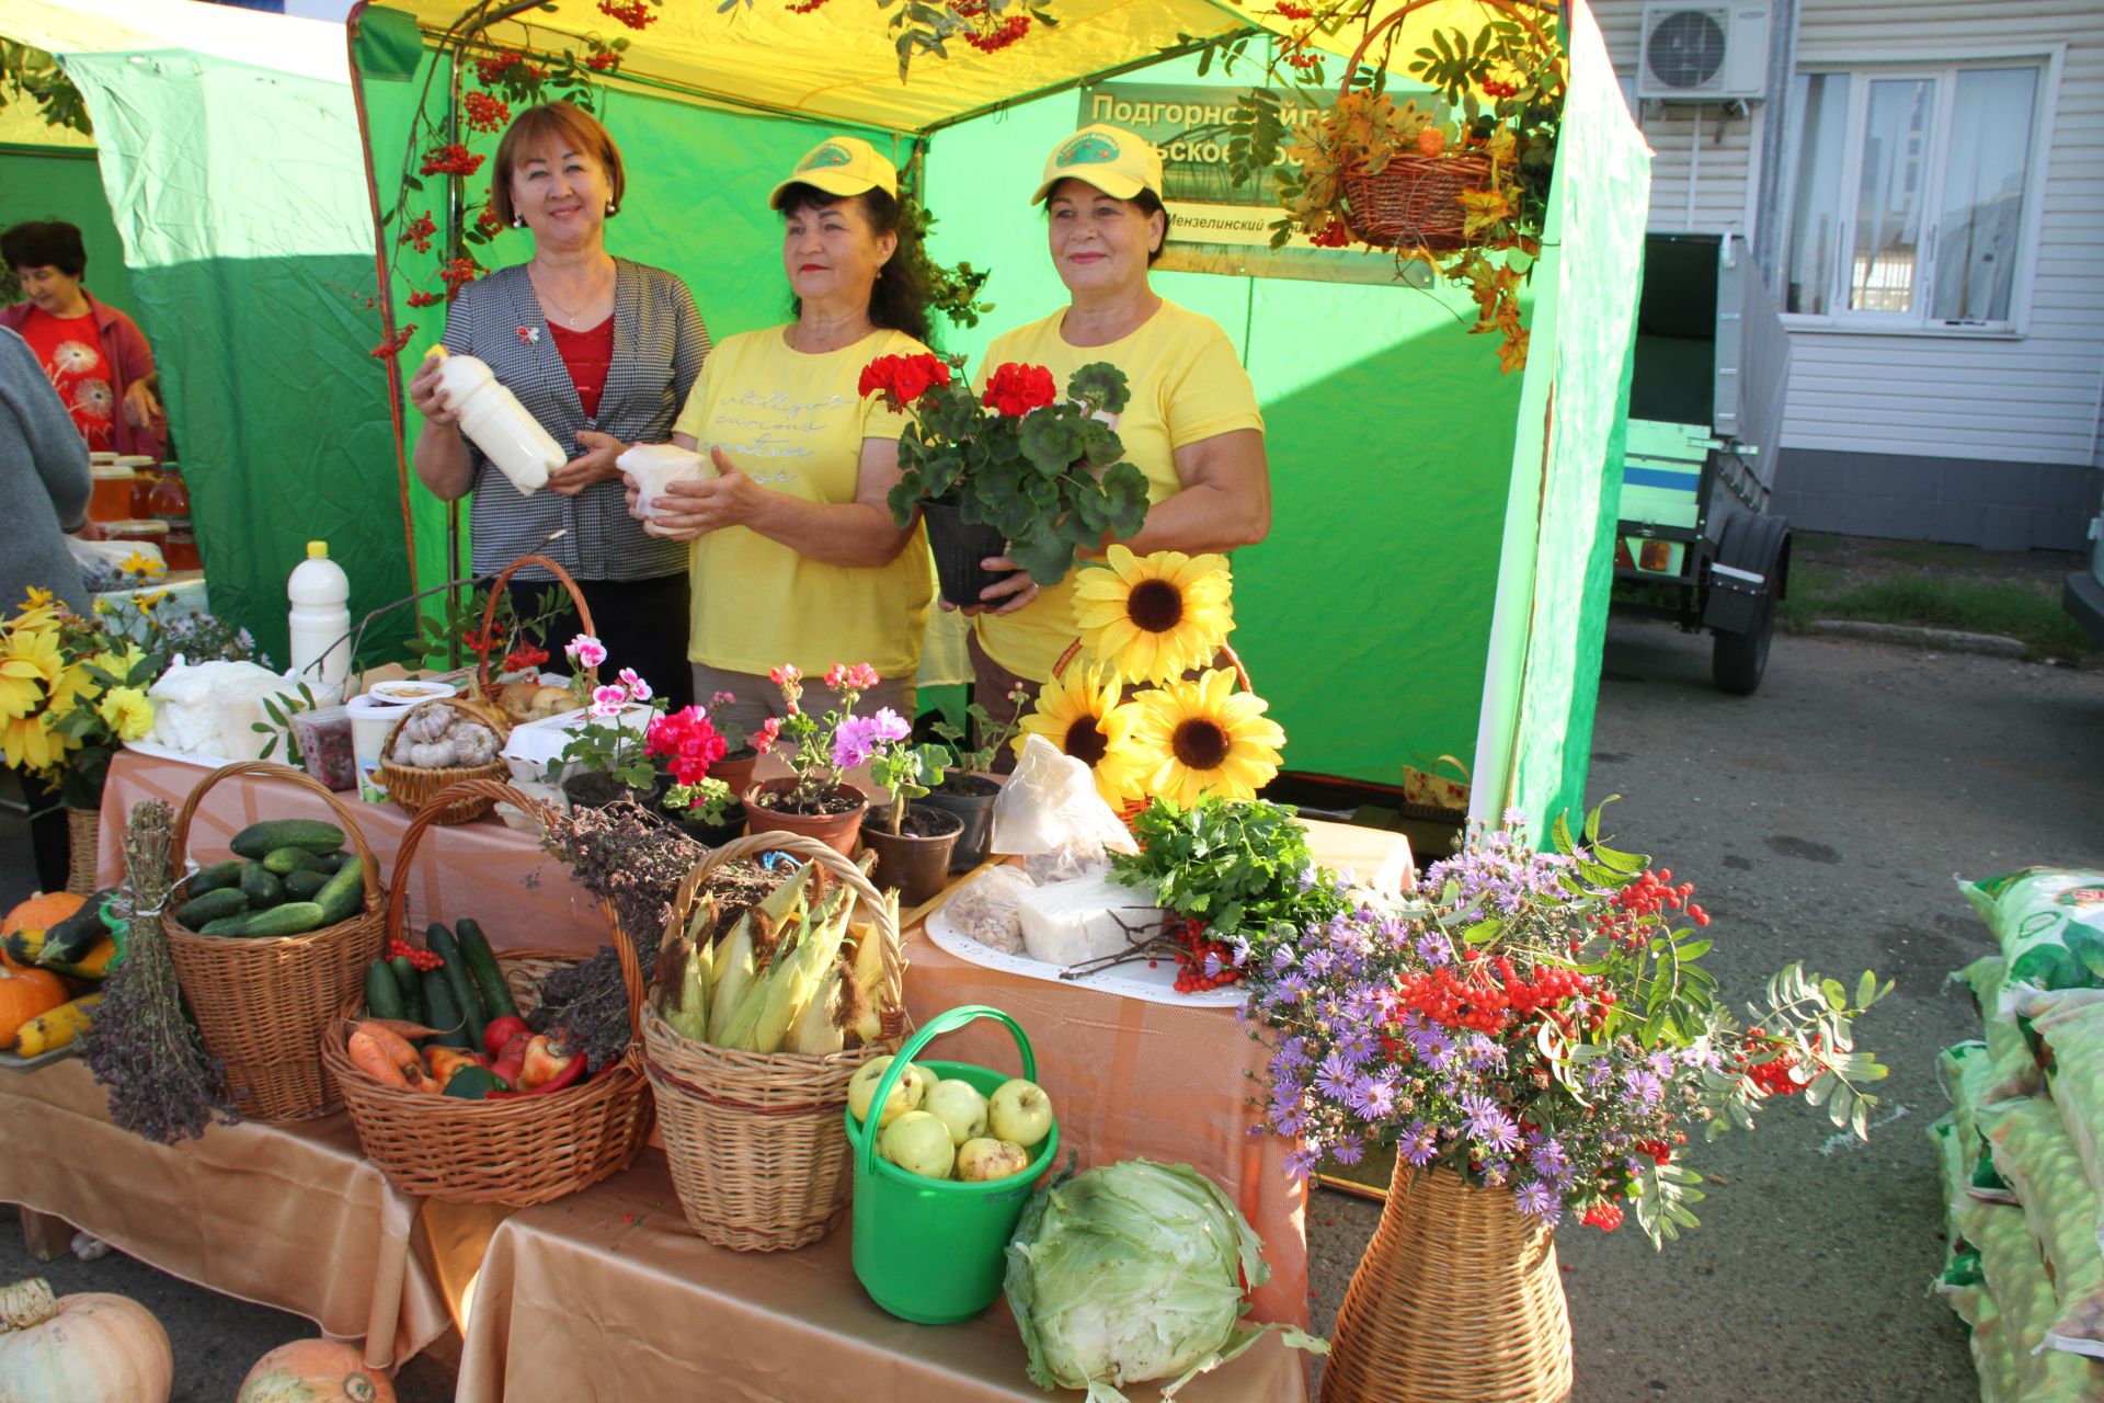
[{"label": "bright green plastic bucket with handle, holding apples", "polygon": [[[892,1085],[905,1075],[922,1048],[943,1033],[953,1033],[978,1018],[1008,1024],[1023,1054],[1023,1079],[1037,1079],[1037,1054],[1023,1026],[997,1008],[968,1003],[934,1018],[915,1033],[892,1064],[884,1069],[871,1106],[884,1106]],[[970,1062],[919,1062],[934,1075],[970,1081],[991,1096],[1008,1081],[1006,1073]],[[877,1157],[875,1127],[863,1132],[852,1111],[848,1142],[854,1146],[854,1275],[869,1298],[903,1321],[917,1325],[955,1325],[968,1321],[1002,1294],[1008,1262],[1008,1239],[1031,1191],[1044,1178],[1058,1153],[1058,1121],[1031,1157],[1031,1167],[991,1184],[959,1184],[955,1180],[907,1174]]]}]

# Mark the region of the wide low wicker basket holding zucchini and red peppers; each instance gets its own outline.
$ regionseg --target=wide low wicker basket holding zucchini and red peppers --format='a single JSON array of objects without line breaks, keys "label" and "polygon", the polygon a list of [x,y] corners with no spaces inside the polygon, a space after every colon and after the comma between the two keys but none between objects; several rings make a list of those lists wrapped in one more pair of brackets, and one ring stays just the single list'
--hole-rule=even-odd
[{"label": "wide low wicker basket holding zucchini and red peppers", "polygon": [[[465,793],[454,793],[465,791]],[[433,795],[402,833],[396,856],[396,890],[387,900],[385,934],[402,934],[406,881],[400,873],[423,835],[444,822],[440,814],[473,797],[482,804],[511,804],[528,814],[545,808],[520,791],[492,780],[467,780]],[[608,913],[621,978],[629,991],[629,1026],[644,999],[644,974],[635,947]],[[501,951],[505,980],[520,1012],[532,1008],[534,980],[576,955],[555,951]],[[598,1184],[625,1170],[650,1136],[650,1087],[644,1083],[642,1052],[631,1041],[623,1060],[591,1081],[515,1100],[457,1100],[372,1081],[351,1064],[347,1039],[351,1022],[364,1014],[364,993],[343,999],[322,1037],[322,1062],[343,1085],[343,1104],[358,1127],[366,1159],[379,1165],[396,1188],[421,1199],[452,1203],[505,1203],[526,1207]]]}]

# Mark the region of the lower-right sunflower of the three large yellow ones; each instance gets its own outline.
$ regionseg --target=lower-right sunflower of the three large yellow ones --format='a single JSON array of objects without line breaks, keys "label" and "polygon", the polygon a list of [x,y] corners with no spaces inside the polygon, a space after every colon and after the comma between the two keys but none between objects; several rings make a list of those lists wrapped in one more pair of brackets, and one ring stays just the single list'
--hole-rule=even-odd
[{"label": "lower-right sunflower of the three large yellow ones", "polygon": [[1235,692],[1235,675],[1206,671],[1132,698],[1140,791],[1191,808],[1199,795],[1254,799],[1279,772],[1286,732],[1265,717],[1265,698]]}]

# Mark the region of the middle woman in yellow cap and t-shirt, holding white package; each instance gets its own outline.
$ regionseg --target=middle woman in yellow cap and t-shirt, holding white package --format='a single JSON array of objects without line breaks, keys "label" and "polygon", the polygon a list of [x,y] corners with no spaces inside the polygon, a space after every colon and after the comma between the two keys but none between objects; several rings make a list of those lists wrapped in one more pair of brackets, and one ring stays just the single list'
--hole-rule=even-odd
[{"label": "middle woman in yellow cap and t-shirt, holding white package", "polygon": [[648,530],[694,543],[688,660],[699,700],[736,698],[713,707],[720,719],[751,730],[781,715],[768,671],[783,663],[808,677],[871,663],[884,682],[858,709],[911,717],[934,568],[919,524],[892,526],[884,503],[905,419],[861,395],[871,360],[928,349],[898,172],[867,141],[831,137],[772,204],[797,320],[730,337],[703,364],[673,442],[707,452],[715,475],[673,482]]}]

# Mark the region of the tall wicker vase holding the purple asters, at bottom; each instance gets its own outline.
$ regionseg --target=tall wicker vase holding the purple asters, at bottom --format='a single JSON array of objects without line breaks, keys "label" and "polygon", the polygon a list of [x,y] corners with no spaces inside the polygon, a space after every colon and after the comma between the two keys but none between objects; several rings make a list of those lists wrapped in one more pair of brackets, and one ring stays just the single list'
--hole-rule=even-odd
[{"label": "tall wicker vase holding the purple asters, at bottom", "polygon": [[1559,1403],[1572,1325],[1557,1239],[1504,1188],[1397,1159],[1330,1338],[1321,1403]]}]

